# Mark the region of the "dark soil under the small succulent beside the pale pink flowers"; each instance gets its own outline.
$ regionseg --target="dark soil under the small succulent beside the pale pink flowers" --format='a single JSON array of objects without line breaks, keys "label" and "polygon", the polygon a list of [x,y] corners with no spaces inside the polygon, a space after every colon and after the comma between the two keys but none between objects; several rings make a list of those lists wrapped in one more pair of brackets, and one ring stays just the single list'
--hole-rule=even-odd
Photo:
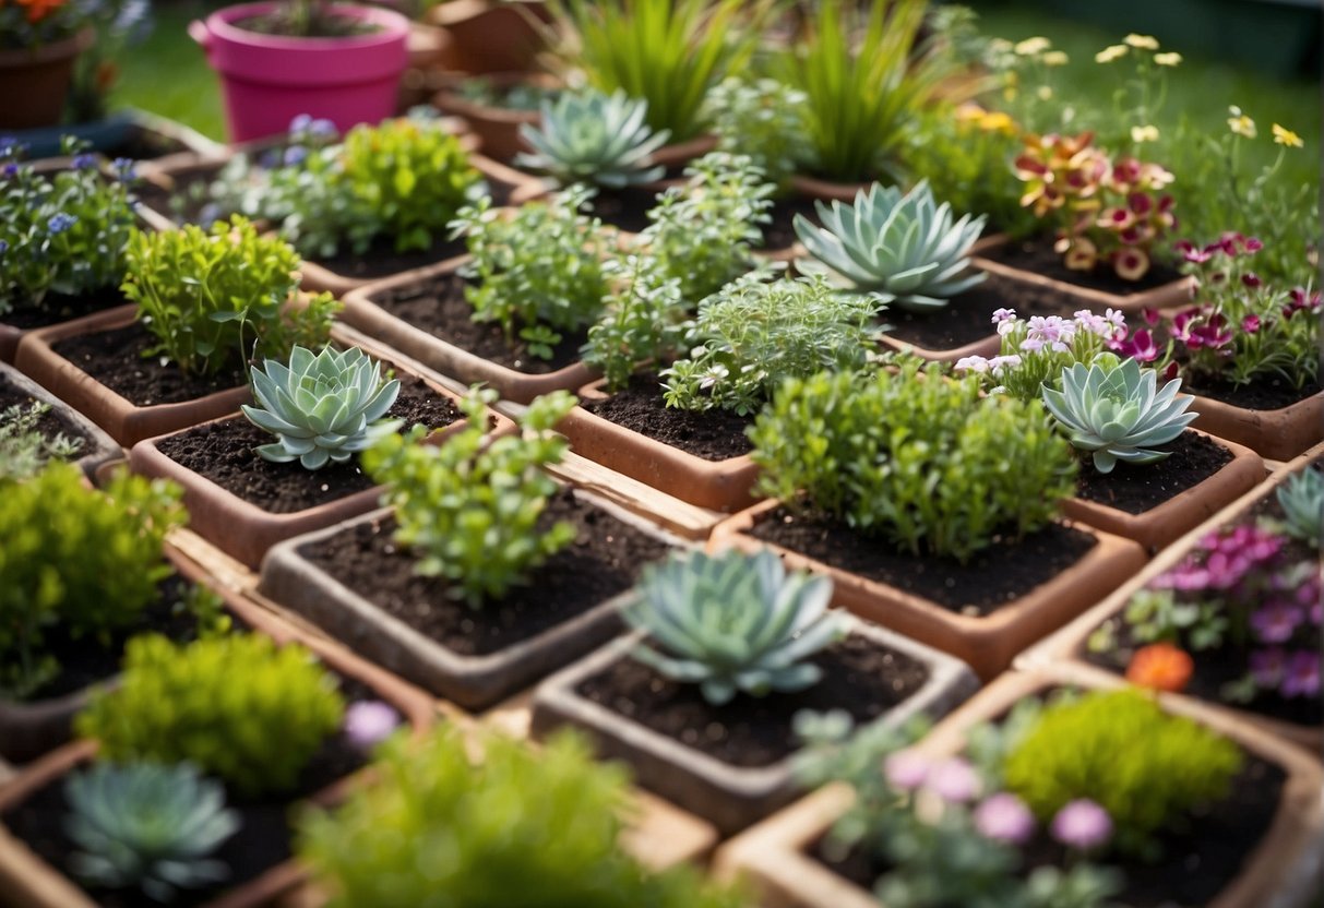
[{"label": "dark soil under the small succulent beside the pale pink flowers", "polygon": [[1076,495],[1127,514],[1144,514],[1198,486],[1233,461],[1230,450],[1190,430],[1181,433],[1168,450],[1169,457],[1157,463],[1119,461],[1108,474],[1095,470],[1094,459],[1084,454]]}]

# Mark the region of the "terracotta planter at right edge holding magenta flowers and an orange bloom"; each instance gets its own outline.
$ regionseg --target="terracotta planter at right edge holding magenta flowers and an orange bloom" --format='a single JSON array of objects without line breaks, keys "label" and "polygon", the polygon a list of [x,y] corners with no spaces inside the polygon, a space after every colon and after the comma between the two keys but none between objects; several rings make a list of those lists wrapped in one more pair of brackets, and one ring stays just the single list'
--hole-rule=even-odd
[{"label": "terracotta planter at right edge holding magenta flowers and an orange bloom", "polygon": [[[1194,527],[1176,540],[1172,545],[1165,548],[1158,556],[1145,565],[1144,570],[1139,572],[1129,580],[1127,580],[1116,592],[1113,592],[1108,598],[1106,598],[1099,605],[1094,606],[1079,618],[1068,623],[1066,627],[1053,634],[1043,642],[1038,643],[1030,650],[1026,650],[1019,658],[1017,658],[1017,667],[1026,670],[1039,670],[1043,667],[1054,666],[1058,663],[1070,663],[1071,666],[1079,668],[1080,671],[1091,671],[1102,675],[1107,675],[1103,668],[1091,666],[1086,662],[1086,650],[1088,646],[1090,635],[1106,621],[1113,615],[1120,614],[1131,598],[1141,589],[1148,586],[1155,577],[1158,577],[1168,570],[1177,567],[1186,555],[1210,532],[1219,529],[1223,525],[1234,523],[1243,519],[1256,504],[1274,495],[1280,484],[1286,482],[1291,475],[1305,470],[1315,461],[1324,458],[1324,445],[1316,445],[1313,449],[1296,458],[1291,463],[1283,466],[1275,471],[1268,482],[1256,486],[1251,491],[1246,492],[1235,502],[1227,504],[1221,511],[1214,514],[1211,518]],[[1192,699],[1190,695],[1182,695],[1181,699]],[[1284,740],[1292,741],[1313,753],[1317,753],[1320,748],[1324,748],[1324,728],[1319,725],[1300,725],[1296,723],[1288,723],[1279,719],[1272,719],[1270,716],[1263,716],[1246,708],[1227,705],[1217,703],[1210,705],[1214,709],[1222,709],[1239,716],[1242,720],[1258,725],[1270,735],[1276,735]]]}]

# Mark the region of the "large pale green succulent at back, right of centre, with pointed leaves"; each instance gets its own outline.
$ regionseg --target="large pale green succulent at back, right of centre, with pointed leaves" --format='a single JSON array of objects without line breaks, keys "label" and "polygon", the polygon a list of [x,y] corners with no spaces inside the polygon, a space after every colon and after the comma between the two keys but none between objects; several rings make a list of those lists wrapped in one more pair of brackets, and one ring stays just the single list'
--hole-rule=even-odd
[{"label": "large pale green succulent at back, right of centre, with pointed leaves", "polygon": [[984,216],[952,222],[952,208],[936,205],[922,180],[904,196],[875,183],[855,203],[817,203],[822,226],[796,214],[796,236],[813,257],[801,271],[821,271],[835,283],[871,293],[910,311],[947,306],[948,299],[984,281],[968,274],[970,245],[984,230]]}]

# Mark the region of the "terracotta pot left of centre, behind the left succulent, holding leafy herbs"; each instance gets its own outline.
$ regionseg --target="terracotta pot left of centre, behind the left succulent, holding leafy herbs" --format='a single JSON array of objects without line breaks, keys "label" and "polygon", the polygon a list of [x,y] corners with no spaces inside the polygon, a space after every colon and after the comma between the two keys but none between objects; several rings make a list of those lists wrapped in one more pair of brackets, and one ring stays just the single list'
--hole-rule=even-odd
[{"label": "terracotta pot left of centre, behind the left succulent, holding leafy herbs", "polygon": [[584,363],[572,363],[545,375],[531,375],[498,365],[416,328],[373,303],[373,298],[380,293],[418,285],[440,274],[453,274],[467,259],[467,255],[461,255],[354,290],[346,294],[340,319],[445,376],[466,385],[487,384],[503,398],[516,404],[528,404],[552,390],[577,388],[593,377],[593,371]]}]

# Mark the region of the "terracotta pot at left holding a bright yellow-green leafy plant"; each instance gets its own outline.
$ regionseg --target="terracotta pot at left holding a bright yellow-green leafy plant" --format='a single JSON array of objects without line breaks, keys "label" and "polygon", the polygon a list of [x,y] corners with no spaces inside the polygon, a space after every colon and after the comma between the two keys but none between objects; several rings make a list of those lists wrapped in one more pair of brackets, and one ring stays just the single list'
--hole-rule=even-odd
[{"label": "terracotta pot at left holding a bright yellow-green leafy plant", "polygon": [[120,445],[130,447],[143,438],[164,435],[233,413],[249,400],[248,386],[218,390],[197,400],[177,404],[135,406],[106,385],[52,349],[65,338],[111,331],[132,324],[136,307],[120,306],[73,322],[64,322],[24,335],[15,356],[15,365],[53,394],[70,404],[106,430]]}]

